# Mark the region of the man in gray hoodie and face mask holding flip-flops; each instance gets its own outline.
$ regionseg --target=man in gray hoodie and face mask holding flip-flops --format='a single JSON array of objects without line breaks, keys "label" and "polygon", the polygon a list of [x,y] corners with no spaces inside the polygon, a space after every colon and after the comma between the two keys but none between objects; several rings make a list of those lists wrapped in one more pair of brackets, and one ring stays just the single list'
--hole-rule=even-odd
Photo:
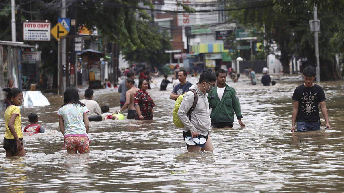
[{"label": "man in gray hoodie and face mask holding flip-flops", "polygon": [[[216,77],[211,71],[205,70],[200,75],[200,80],[198,83],[190,87],[189,92],[187,92],[183,101],[180,104],[178,110],[178,117],[184,124],[183,136],[184,139],[187,136],[204,137],[206,139],[205,146],[199,147],[196,145],[187,145],[187,150],[192,151],[213,151],[213,145],[211,138],[209,137],[209,103],[207,100],[207,93],[211,92],[216,82]],[[197,103],[195,109],[190,113],[189,117],[187,113],[192,107],[195,94],[190,90],[195,90],[197,93]]]}]

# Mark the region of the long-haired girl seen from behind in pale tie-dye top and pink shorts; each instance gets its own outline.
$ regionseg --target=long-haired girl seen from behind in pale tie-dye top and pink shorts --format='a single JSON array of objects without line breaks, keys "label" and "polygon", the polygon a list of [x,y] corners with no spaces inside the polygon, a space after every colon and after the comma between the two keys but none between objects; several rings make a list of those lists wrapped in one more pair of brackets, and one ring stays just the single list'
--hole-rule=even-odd
[{"label": "long-haired girl seen from behind in pale tie-dye top and pink shorts", "polygon": [[67,87],[64,92],[64,105],[57,111],[57,115],[60,116],[60,131],[64,135],[64,148],[68,154],[76,154],[77,151],[80,154],[90,152],[87,112],[86,105],[80,102],[78,91],[74,87]]}]

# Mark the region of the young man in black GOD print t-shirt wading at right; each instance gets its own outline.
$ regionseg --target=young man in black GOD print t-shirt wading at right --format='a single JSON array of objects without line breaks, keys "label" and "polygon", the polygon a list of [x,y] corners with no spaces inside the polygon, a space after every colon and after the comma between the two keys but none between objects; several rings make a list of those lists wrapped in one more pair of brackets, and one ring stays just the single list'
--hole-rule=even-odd
[{"label": "young man in black GOD print t-shirt wading at right", "polygon": [[314,131],[320,129],[319,103],[321,112],[326,122],[326,128],[331,129],[329,117],[325,104],[324,90],[314,84],[315,69],[307,66],[303,70],[304,83],[296,87],[293,100],[292,126],[291,132],[295,130],[295,122],[297,122],[297,131]]}]

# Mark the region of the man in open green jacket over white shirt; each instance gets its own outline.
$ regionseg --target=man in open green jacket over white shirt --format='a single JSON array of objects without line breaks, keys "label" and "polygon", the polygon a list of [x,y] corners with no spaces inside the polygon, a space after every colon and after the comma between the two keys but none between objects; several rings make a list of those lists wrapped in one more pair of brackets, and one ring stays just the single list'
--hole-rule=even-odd
[{"label": "man in open green jacket over white shirt", "polygon": [[227,73],[225,70],[216,72],[217,87],[208,94],[209,109],[212,109],[212,127],[233,127],[234,111],[240,127],[245,127],[241,122],[240,103],[238,95],[232,87],[226,84]]}]

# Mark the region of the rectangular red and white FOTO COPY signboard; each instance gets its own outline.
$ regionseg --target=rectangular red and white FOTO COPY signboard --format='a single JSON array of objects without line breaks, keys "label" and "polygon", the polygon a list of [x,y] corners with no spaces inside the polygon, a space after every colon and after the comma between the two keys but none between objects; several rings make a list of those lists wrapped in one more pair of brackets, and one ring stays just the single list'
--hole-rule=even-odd
[{"label": "rectangular red and white FOTO COPY signboard", "polygon": [[50,41],[51,23],[45,21],[23,22],[23,40]]}]

